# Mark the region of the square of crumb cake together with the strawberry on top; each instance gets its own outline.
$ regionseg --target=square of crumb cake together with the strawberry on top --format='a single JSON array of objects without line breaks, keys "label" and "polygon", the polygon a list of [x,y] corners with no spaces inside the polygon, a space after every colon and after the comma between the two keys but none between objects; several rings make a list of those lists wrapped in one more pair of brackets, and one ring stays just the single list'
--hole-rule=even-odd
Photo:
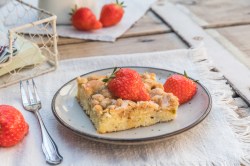
[{"label": "square of crumb cake together with the strawberry on top", "polygon": [[108,76],[77,79],[77,99],[97,132],[109,133],[173,120],[178,98],[164,92],[154,73],[122,68]]}]

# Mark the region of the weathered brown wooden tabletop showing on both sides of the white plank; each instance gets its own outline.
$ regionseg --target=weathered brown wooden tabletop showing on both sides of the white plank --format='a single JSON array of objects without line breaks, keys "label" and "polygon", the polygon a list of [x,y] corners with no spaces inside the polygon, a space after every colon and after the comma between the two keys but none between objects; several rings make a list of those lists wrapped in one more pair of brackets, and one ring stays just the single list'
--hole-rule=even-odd
[{"label": "weathered brown wooden tabletop showing on both sides of the white plank", "polygon": [[[164,0],[159,0],[159,2]],[[166,0],[165,0],[166,1]],[[169,0],[177,4],[200,27],[225,46],[250,72],[250,1],[248,0]],[[60,59],[119,55],[187,48],[152,9],[116,42],[59,38]],[[250,84],[250,83],[249,83]],[[237,94],[234,101],[240,116],[250,115],[249,103]]]}]

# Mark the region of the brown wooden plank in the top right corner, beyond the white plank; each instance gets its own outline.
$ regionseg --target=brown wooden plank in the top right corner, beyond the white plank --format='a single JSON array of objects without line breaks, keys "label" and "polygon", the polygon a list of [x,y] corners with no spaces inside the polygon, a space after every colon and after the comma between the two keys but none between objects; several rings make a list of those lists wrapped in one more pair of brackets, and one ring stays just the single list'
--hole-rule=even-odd
[{"label": "brown wooden plank in the top right corner, beyond the white plank", "polygon": [[[249,0],[170,0],[205,28],[250,23]],[[189,12],[188,10],[191,12]]]}]

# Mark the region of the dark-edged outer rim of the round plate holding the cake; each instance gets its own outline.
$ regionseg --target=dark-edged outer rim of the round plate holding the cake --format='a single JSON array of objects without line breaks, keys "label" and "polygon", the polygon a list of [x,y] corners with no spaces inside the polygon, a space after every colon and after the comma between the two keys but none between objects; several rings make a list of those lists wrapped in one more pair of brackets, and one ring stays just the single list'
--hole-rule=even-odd
[{"label": "dark-edged outer rim of the round plate holding the cake", "polygon": [[[99,71],[103,71],[103,70],[110,70],[110,69],[113,69],[113,68],[114,67],[109,67],[109,68],[103,68],[103,69],[98,69],[98,70],[90,71],[90,72],[82,74],[82,75],[80,75],[78,77],[83,77],[83,76],[89,75],[91,73],[95,73],[95,72],[99,72]],[[183,75],[182,73],[175,72],[175,71],[172,71],[172,70],[162,69],[162,68],[156,68],[156,67],[147,67],[147,66],[121,66],[119,68],[153,69],[153,70],[161,70],[161,71],[165,71],[165,72],[171,72],[173,74]],[[189,78],[192,79],[193,81],[196,81],[195,79],[193,79],[191,77],[189,77]],[[80,135],[80,136],[82,136],[82,137],[84,137],[86,139],[94,140],[94,141],[97,141],[97,142],[111,143],[111,144],[120,144],[120,145],[136,145],[136,144],[146,144],[146,143],[152,143],[152,142],[160,141],[160,140],[163,140],[163,139],[166,139],[166,138],[169,138],[169,137],[181,134],[181,133],[183,133],[185,131],[188,131],[188,130],[192,129],[193,127],[197,126],[198,124],[200,124],[208,116],[208,114],[211,112],[211,109],[212,109],[212,97],[211,97],[210,92],[208,91],[208,89],[203,84],[201,84],[199,81],[198,82],[196,81],[196,83],[199,84],[203,88],[203,90],[206,92],[206,94],[208,96],[208,99],[209,99],[209,102],[208,102],[208,107],[206,108],[206,110],[204,111],[204,113],[202,114],[202,116],[200,118],[198,118],[192,124],[190,124],[190,125],[182,128],[182,129],[179,129],[179,130],[176,130],[174,132],[171,132],[171,133],[162,134],[162,135],[153,136],[153,137],[146,137],[146,138],[131,138],[131,139],[122,139],[122,138],[119,138],[119,139],[117,139],[117,138],[102,138],[102,137],[98,137],[98,136],[92,136],[92,135],[89,135],[88,133],[84,133],[84,132],[81,132],[80,130],[72,128],[70,125],[68,125],[66,122],[64,122],[60,118],[60,116],[57,114],[56,109],[55,109],[55,100],[56,100],[59,92],[61,91],[61,89],[64,88],[67,84],[69,84],[70,82],[72,82],[72,81],[74,81],[76,79],[77,79],[77,77],[75,77],[75,78],[67,81],[65,84],[63,84],[56,91],[56,93],[53,96],[52,103],[51,103],[52,113],[54,114],[54,116],[56,117],[57,121],[59,121],[60,124],[62,124],[67,129],[73,131],[73,133],[75,133],[77,135]]]}]

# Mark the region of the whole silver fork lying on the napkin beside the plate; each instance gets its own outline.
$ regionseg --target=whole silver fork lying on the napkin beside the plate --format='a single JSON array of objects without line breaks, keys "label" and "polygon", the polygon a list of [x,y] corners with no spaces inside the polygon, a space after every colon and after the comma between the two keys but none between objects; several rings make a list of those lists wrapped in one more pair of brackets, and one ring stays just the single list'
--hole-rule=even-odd
[{"label": "whole silver fork lying on the napkin beside the plate", "polygon": [[24,88],[23,82],[20,81],[23,107],[25,110],[35,113],[39,121],[42,133],[42,150],[45,154],[46,161],[49,164],[60,164],[63,157],[60,155],[58,148],[46,129],[39,113],[39,110],[42,108],[42,103],[38,96],[34,80],[32,79],[32,85],[30,85],[30,81],[27,80],[26,86],[27,89]]}]

